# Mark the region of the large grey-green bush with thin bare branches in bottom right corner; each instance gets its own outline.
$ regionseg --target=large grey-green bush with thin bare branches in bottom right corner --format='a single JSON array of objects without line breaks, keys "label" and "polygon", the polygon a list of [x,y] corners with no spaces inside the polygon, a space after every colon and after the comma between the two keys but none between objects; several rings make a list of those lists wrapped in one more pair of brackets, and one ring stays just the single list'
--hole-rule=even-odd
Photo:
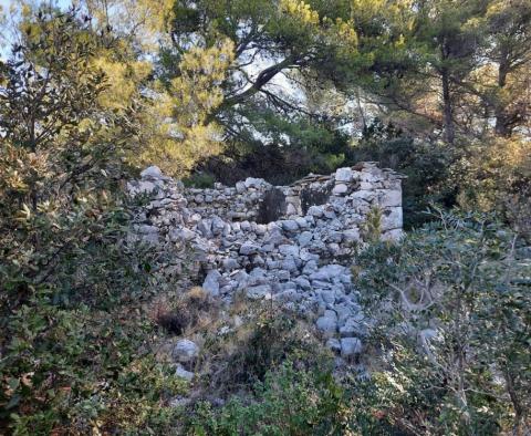
[{"label": "large grey-green bush with thin bare branches in bottom right corner", "polygon": [[491,219],[439,218],[399,246],[373,246],[354,267],[375,318],[384,414],[423,434],[522,434],[531,261]]}]

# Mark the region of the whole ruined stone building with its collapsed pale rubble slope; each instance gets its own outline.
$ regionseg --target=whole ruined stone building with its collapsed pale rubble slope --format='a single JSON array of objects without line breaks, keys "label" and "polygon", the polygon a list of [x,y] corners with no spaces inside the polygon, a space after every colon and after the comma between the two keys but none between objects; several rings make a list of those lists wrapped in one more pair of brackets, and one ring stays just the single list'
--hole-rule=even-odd
[{"label": "whole ruined stone building with its collapsed pale rubble slope", "polygon": [[171,253],[165,272],[186,274],[227,303],[236,292],[271,300],[316,320],[343,357],[362,351],[365,320],[350,264],[367,217],[379,219],[382,239],[400,238],[403,176],[375,163],[290,186],[247,178],[233,187],[185,188],[157,167],[140,176],[128,184],[145,203],[131,238]]}]

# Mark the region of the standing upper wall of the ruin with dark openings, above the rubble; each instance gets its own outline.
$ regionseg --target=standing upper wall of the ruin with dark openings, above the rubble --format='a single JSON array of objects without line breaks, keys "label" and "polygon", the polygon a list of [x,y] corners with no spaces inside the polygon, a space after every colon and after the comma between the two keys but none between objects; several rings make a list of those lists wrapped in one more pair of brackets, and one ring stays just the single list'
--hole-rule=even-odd
[{"label": "standing upper wall of the ruin with dark openings, above the rubble", "polygon": [[[400,176],[374,163],[340,168],[329,176],[309,175],[291,186],[272,186],[260,178],[238,181],[235,187],[216,184],[212,189],[184,189],[188,208],[202,217],[217,216],[228,222],[268,224],[305,216],[311,206],[334,204],[367,214],[367,206],[383,211],[382,230],[395,238],[402,229]],[[340,214],[350,210],[341,210]],[[356,220],[354,220],[356,221]],[[358,225],[360,222],[352,222]],[[395,230],[395,231],[394,231]]]}]

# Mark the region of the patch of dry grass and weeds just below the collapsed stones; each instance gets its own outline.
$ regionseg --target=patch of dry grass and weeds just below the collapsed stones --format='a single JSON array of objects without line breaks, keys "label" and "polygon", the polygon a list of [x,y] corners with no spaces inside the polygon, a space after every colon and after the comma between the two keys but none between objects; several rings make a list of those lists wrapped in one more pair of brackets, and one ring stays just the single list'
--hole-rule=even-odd
[{"label": "patch of dry grass and weeds just below the collapsed stones", "polygon": [[171,300],[160,299],[153,319],[171,336],[160,339],[159,360],[171,360],[176,335],[201,350],[186,366],[196,373],[188,393],[192,403],[246,395],[287,359],[309,367],[331,357],[310,323],[271,301],[249,300],[243,292],[232,295],[230,307],[222,307],[201,288],[191,288]]}]

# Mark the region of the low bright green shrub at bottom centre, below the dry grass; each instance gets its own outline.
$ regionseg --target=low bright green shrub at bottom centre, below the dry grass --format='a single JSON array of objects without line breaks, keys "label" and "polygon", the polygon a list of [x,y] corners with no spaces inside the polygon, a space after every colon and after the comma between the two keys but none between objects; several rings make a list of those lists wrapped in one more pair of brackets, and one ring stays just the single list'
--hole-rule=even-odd
[{"label": "low bright green shrub at bottom centre, below the dry grass", "polygon": [[342,435],[347,404],[330,372],[295,367],[293,362],[267,372],[254,395],[235,397],[222,408],[197,405],[189,424],[194,435]]}]

